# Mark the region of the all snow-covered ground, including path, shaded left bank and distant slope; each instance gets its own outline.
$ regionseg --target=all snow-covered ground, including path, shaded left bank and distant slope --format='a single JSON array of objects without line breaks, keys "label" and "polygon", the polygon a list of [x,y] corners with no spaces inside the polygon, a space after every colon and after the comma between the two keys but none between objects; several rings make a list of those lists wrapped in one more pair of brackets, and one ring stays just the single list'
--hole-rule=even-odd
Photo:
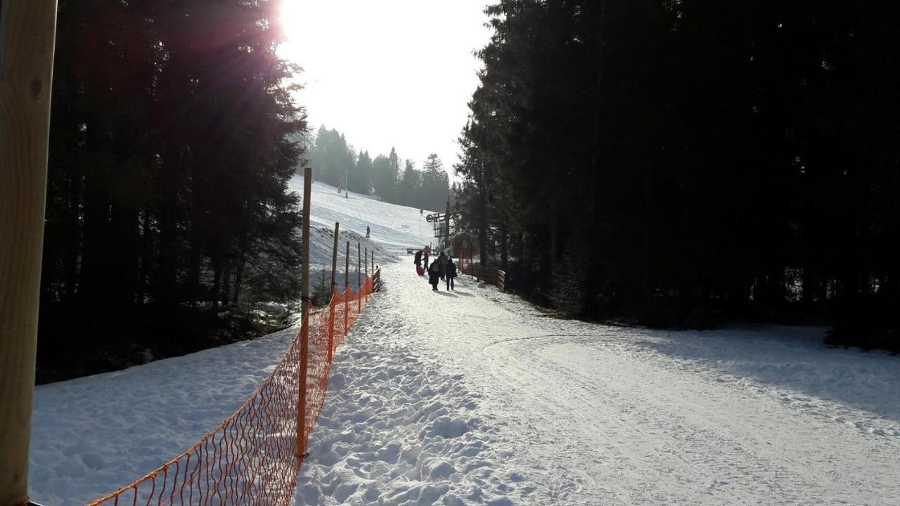
[{"label": "all snow-covered ground, including path, shaded left bank and distant slope", "polygon": [[[372,227],[385,286],[335,356],[298,504],[900,505],[900,357],[560,321],[469,277],[433,293],[400,254],[418,220],[314,185],[315,223]],[[84,503],[180,453],[292,337],[38,387],[31,499]]]}]

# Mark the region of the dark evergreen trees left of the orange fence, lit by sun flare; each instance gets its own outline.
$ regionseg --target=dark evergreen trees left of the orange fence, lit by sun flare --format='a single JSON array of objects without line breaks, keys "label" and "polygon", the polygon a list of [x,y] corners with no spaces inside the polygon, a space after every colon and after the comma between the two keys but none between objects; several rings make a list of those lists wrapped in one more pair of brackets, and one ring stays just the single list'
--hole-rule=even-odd
[{"label": "dark evergreen trees left of the orange fence, lit by sun flare", "polygon": [[220,307],[299,294],[276,7],[59,0],[39,382],[252,337]]}]

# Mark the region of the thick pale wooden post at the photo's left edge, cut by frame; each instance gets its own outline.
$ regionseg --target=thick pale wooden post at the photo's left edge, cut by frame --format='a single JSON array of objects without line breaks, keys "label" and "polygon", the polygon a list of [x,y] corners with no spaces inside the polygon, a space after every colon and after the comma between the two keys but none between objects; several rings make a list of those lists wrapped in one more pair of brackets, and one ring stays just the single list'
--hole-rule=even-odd
[{"label": "thick pale wooden post at the photo's left edge, cut by frame", "polygon": [[0,506],[28,499],[56,10],[0,2]]}]

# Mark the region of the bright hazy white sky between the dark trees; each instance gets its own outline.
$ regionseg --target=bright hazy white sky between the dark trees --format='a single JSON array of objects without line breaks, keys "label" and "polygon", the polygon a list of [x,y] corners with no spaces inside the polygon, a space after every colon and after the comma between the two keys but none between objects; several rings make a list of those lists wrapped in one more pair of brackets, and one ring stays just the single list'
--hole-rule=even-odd
[{"label": "bright hazy white sky between the dark trees", "polygon": [[473,51],[491,37],[488,1],[283,0],[291,41],[280,52],[304,69],[311,127],[373,158],[396,147],[419,168],[437,153],[452,174],[478,86]]}]

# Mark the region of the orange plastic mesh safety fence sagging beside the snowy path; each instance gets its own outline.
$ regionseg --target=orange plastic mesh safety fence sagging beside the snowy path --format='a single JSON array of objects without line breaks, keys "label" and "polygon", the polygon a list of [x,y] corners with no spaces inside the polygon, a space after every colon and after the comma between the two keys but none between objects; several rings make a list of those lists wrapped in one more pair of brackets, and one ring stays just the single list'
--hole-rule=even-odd
[{"label": "orange plastic mesh safety fence sagging beside the snowy path", "polygon": [[356,294],[335,291],[328,308],[307,312],[275,370],[238,411],[183,454],[89,506],[288,504],[325,402],[332,354],[371,293],[369,276]]}]

